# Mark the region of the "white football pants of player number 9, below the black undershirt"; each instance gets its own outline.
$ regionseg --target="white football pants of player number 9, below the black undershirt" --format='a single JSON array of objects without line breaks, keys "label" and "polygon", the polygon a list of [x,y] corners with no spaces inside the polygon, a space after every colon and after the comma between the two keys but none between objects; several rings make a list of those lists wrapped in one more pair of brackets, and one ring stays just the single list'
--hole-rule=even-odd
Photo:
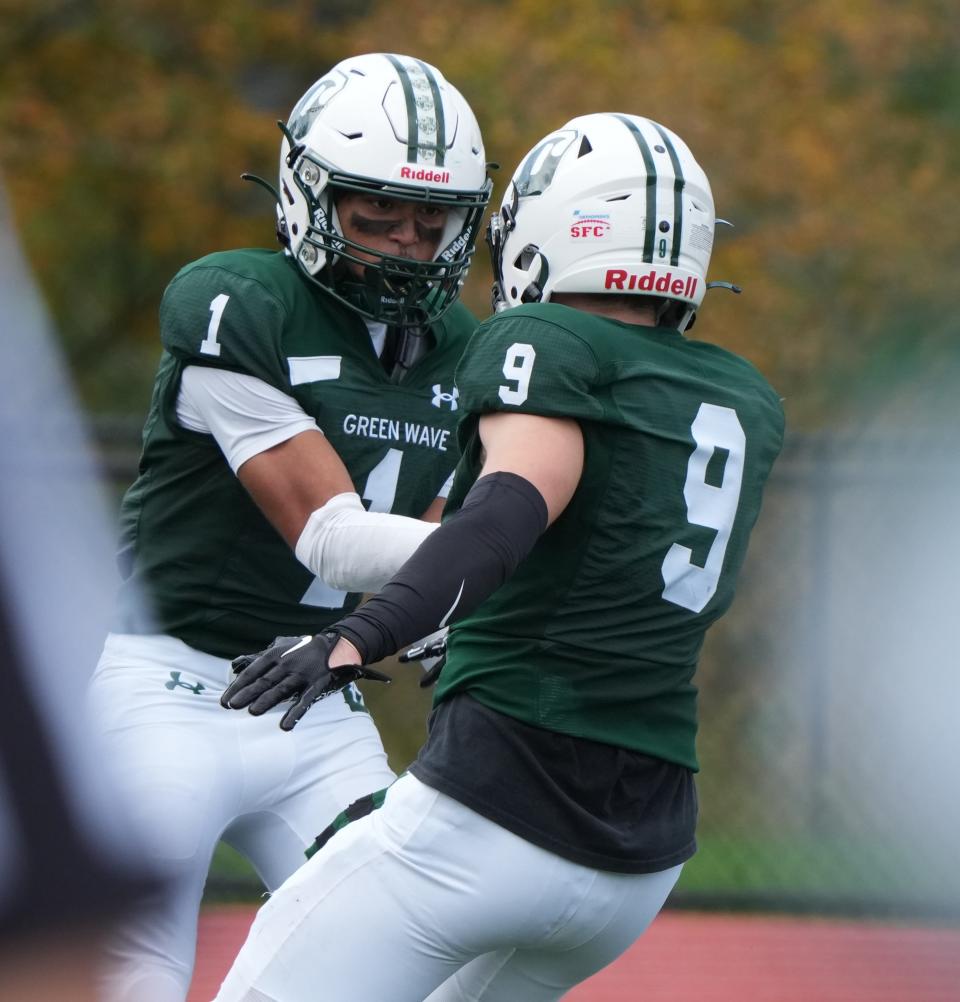
[{"label": "white football pants of player number 9, below the black undershirt", "polygon": [[553,1002],[680,870],[570,863],[404,775],[261,908],[215,1002]]}]

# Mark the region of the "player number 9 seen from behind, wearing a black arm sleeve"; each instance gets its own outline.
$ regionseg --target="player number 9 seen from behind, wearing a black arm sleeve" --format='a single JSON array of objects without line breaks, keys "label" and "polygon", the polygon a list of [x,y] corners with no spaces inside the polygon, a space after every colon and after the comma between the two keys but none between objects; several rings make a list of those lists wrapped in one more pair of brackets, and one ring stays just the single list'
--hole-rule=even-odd
[{"label": "player number 9 seen from behind, wearing a black arm sleeve", "polygon": [[261,910],[217,1002],[548,1002],[659,911],[695,848],[697,656],[784,430],[750,363],[684,334],[714,222],[646,118],[574,118],[520,164],[443,524],[223,693],[255,713],[299,693],[292,726],[350,665],[451,622],[427,742]]}]

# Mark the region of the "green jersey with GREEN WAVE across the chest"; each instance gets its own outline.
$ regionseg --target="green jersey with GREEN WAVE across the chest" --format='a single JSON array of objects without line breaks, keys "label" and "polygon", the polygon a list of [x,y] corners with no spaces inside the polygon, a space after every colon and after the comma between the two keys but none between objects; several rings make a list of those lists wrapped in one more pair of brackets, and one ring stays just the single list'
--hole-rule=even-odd
[{"label": "green jersey with GREEN WAVE across the chest", "polygon": [[[139,476],[121,508],[122,632],[156,631],[234,656],[316,632],[360,595],[316,580],[267,521],[210,435],[175,416],[186,366],[255,376],[316,419],[375,511],[421,516],[459,456],[453,372],[475,328],[457,305],[435,347],[392,383],[363,320],[282,253],[231,250],[184,268],[160,307],[163,354]],[[147,620],[134,595],[152,605]]]}]

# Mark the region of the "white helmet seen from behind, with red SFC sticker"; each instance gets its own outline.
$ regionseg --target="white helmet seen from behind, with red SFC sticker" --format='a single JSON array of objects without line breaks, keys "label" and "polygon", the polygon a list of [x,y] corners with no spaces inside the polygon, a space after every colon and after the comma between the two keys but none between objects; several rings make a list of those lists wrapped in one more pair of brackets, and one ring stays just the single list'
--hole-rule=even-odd
[{"label": "white helmet seen from behind, with red SFC sticker", "polygon": [[487,239],[494,307],[554,293],[656,297],[684,330],[706,289],[715,217],[686,143],[637,115],[573,118],[530,150]]}]

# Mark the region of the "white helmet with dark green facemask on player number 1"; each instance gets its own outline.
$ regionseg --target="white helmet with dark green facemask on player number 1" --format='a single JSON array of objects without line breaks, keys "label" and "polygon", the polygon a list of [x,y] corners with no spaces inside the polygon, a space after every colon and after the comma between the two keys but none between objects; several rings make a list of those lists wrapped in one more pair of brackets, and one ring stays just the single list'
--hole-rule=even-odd
[{"label": "white helmet with dark green facemask on player number 1", "polygon": [[[279,232],[303,273],[372,320],[439,318],[460,295],[492,186],[480,128],[460,92],[420,59],[354,56],[321,77],[281,128]],[[345,239],[333,198],[345,188],[448,207],[434,260]],[[363,281],[338,268],[349,261],[364,265]]]}]

